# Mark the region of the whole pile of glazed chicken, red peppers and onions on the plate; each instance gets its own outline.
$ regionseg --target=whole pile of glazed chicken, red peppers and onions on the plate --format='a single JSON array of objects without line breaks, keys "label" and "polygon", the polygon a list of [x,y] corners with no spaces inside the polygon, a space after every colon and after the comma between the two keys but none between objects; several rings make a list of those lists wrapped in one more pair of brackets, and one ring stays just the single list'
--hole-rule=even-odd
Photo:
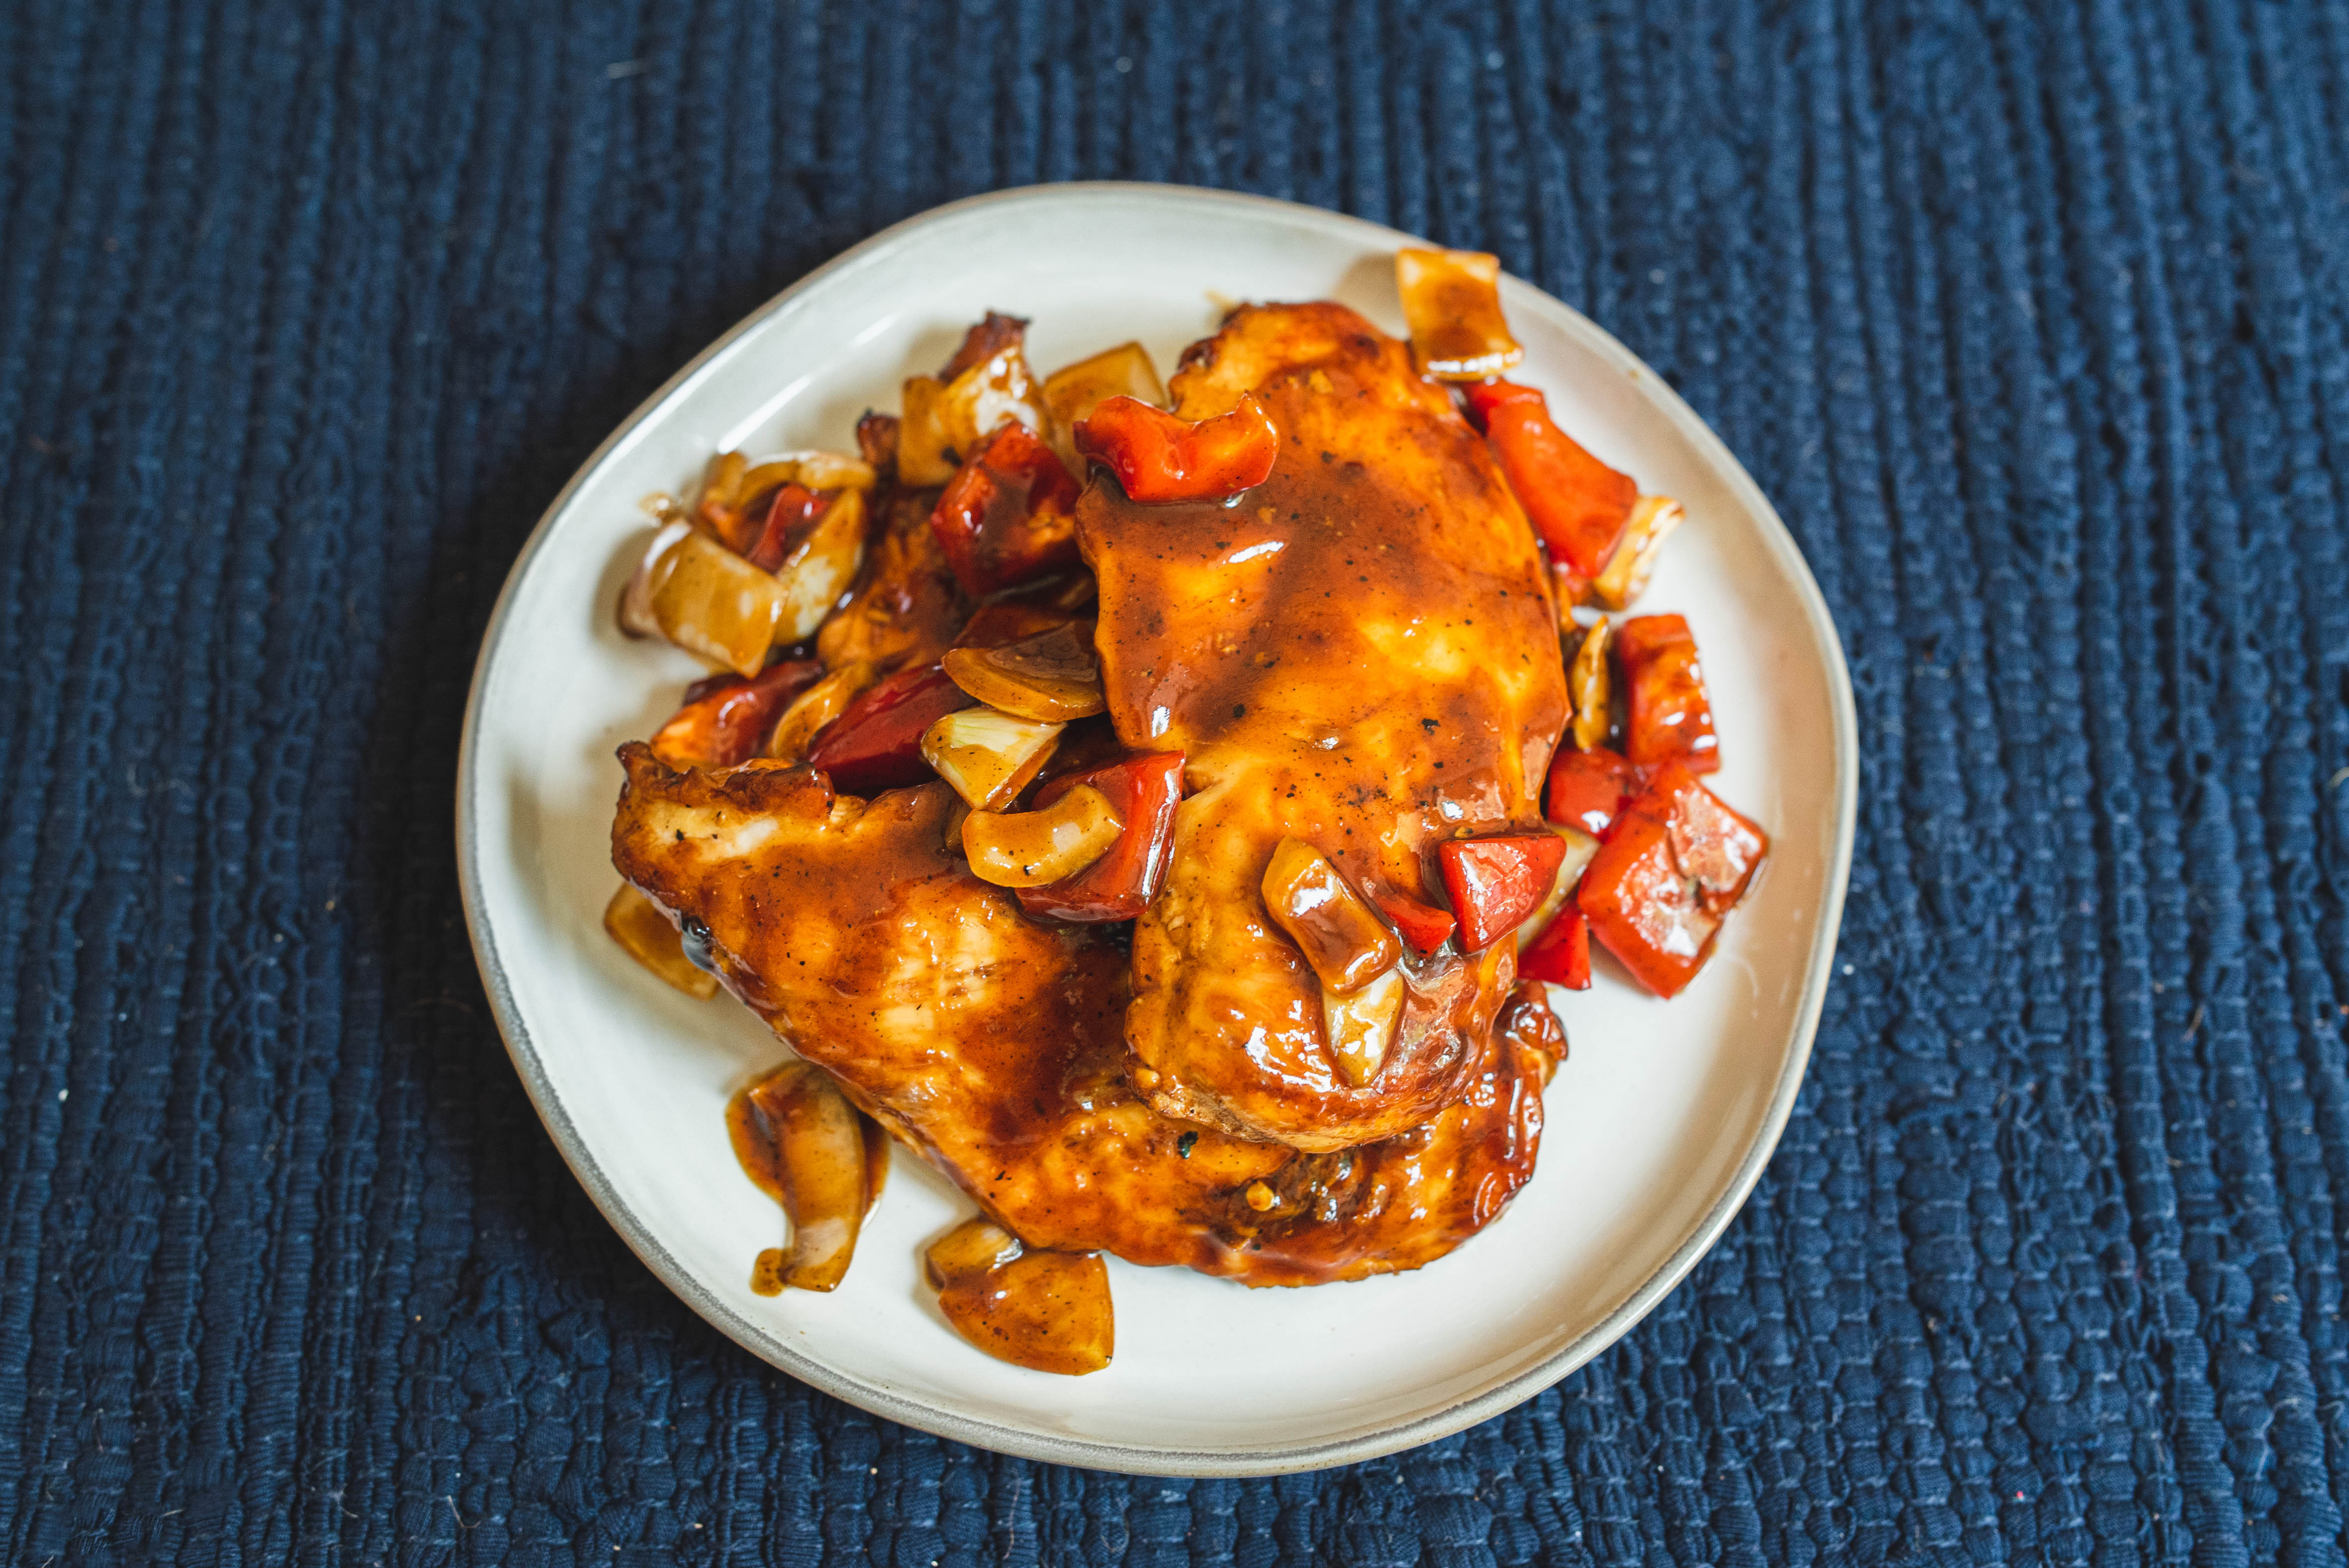
[{"label": "whole pile of glazed chicken, red peppers and onions on the plate", "polygon": [[[1534,1171],[1593,937],[1670,998],[1766,852],[1675,502],[1581,448],[1499,263],[1402,251],[1409,343],[1240,305],[1167,383],[989,315],[857,453],[721,453],[620,603],[712,667],[620,749],[611,934],[792,1047],[731,1108],[841,1284],[900,1141],[991,1354],[1109,1364],[1102,1253],[1245,1284],[1431,1263]],[[886,1134],[886,1136],[883,1136]]]}]

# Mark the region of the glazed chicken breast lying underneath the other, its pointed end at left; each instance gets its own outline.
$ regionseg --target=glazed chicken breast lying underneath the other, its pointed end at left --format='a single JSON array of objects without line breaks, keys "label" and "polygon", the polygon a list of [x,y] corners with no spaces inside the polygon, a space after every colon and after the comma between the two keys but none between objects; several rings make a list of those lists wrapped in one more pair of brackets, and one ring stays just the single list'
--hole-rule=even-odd
[{"label": "glazed chicken breast lying underneath the other, its pointed end at left", "polygon": [[1029,1246],[1247,1284],[1419,1268],[1534,1174],[1550,1056],[1480,1038],[1463,1099],[1344,1155],[1170,1122],[1125,1082],[1125,953],[1045,925],[947,847],[944,784],[874,800],[820,772],[672,772],[641,744],[613,864],[728,991]]}]

